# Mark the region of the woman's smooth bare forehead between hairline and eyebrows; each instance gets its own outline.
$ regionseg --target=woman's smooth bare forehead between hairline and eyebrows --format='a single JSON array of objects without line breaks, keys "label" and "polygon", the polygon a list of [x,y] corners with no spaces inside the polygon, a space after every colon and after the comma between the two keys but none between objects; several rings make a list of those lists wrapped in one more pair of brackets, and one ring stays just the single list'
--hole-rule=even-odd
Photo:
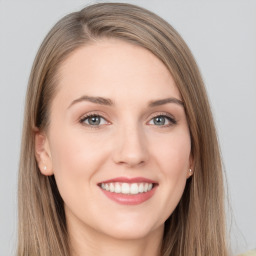
[{"label": "woman's smooth bare forehead between hairline and eyebrows", "polygon": [[83,94],[115,101],[180,98],[161,60],[140,46],[116,39],[102,39],[75,50],[60,67],[58,87],[66,98]]}]

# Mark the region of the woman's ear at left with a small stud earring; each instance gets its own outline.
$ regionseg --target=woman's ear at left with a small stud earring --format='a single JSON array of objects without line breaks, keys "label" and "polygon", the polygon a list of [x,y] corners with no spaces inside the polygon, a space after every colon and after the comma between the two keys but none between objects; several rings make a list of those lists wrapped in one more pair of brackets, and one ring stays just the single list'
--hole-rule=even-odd
[{"label": "woman's ear at left with a small stud earring", "polygon": [[48,138],[44,132],[35,131],[35,157],[43,175],[53,175],[51,151]]}]

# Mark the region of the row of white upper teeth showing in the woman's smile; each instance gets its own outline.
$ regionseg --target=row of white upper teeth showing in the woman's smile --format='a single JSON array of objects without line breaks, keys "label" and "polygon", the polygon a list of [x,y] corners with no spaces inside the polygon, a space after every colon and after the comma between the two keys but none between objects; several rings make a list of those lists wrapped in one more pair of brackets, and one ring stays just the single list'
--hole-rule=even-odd
[{"label": "row of white upper teeth showing in the woman's smile", "polygon": [[113,193],[121,194],[131,194],[137,195],[139,193],[145,193],[150,191],[153,188],[152,183],[120,183],[120,182],[111,182],[111,183],[101,183],[101,188],[110,191]]}]

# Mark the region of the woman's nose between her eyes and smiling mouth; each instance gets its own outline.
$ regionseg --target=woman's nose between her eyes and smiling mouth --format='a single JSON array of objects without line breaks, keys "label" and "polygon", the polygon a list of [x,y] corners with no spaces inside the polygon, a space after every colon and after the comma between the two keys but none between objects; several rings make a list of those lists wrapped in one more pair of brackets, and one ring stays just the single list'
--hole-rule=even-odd
[{"label": "woman's nose between her eyes and smiling mouth", "polygon": [[148,161],[146,136],[142,128],[133,126],[119,129],[114,141],[113,160],[116,164],[132,168]]}]

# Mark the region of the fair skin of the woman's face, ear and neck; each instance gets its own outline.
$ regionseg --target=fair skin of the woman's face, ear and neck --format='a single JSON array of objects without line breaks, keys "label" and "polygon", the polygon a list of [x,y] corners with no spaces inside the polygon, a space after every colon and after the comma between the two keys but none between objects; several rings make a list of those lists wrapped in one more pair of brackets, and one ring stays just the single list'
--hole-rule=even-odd
[{"label": "fair skin of the woman's face, ear and neck", "polygon": [[[55,175],[72,255],[160,255],[164,222],[192,165],[183,106],[149,106],[181,100],[170,72],[146,49],[114,39],[77,49],[59,72],[50,126],[36,133],[36,157],[43,175]],[[113,105],[77,100],[85,95]],[[87,114],[103,118],[92,126],[83,119]],[[155,116],[163,115],[176,123],[168,117],[155,123]],[[121,205],[97,185],[116,177],[144,177],[158,186],[146,202]]]}]

